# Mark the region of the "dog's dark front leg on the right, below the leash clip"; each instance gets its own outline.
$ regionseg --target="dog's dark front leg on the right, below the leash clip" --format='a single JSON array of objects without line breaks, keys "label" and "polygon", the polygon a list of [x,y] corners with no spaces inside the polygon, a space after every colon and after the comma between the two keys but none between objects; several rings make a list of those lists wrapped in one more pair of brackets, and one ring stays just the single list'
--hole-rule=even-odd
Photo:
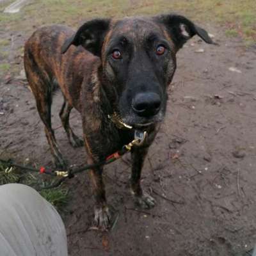
[{"label": "dog's dark front leg on the right, below the leash clip", "polygon": [[145,209],[154,207],[155,200],[152,196],[143,191],[140,184],[141,170],[143,168],[144,159],[147,156],[148,147],[132,148],[132,173],[131,173],[131,191],[136,200],[136,204],[139,204]]}]

